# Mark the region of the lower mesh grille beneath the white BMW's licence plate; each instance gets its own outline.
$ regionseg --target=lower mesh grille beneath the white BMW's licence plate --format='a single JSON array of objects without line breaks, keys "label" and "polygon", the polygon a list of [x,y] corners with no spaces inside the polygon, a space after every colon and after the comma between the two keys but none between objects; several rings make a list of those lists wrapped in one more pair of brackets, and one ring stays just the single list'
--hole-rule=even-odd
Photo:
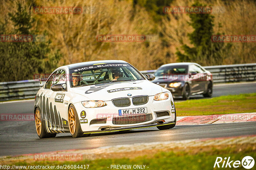
[{"label": "lower mesh grille beneath the white BMW's licence plate", "polygon": [[125,117],[113,117],[113,124],[138,124],[143,122],[148,122],[152,120],[152,114],[146,115],[134,115],[134,116],[125,116]]}]

